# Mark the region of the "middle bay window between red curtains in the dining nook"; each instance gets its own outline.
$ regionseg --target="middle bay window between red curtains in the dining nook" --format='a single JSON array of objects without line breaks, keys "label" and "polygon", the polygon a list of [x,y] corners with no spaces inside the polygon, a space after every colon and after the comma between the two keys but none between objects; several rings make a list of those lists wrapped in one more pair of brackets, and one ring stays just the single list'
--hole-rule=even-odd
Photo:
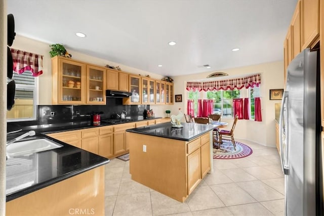
[{"label": "middle bay window between red curtains in the dining nook", "polygon": [[240,98],[240,90],[208,91],[207,99],[214,99],[214,114],[233,117],[233,99]]}]

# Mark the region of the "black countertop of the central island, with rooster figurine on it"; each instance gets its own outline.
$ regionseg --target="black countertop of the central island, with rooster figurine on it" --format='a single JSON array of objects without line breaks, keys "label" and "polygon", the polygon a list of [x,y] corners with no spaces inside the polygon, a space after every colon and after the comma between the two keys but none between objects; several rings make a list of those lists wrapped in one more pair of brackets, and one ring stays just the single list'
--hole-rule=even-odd
[{"label": "black countertop of the central island, with rooster figurine on it", "polygon": [[173,128],[171,122],[127,129],[127,132],[163,137],[174,140],[191,141],[214,129],[212,124],[181,122],[182,128]]}]

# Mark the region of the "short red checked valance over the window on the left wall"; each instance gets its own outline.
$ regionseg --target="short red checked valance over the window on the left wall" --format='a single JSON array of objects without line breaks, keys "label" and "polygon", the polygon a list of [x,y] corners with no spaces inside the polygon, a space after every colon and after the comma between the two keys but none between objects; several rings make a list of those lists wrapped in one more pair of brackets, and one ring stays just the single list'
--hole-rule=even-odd
[{"label": "short red checked valance over the window on the left wall", "polygon": [[16,73],[22,74],[30,71],[32,76],[43,74],[43,56],[28,53],[21,50],[11,49],[13,59],[13,69]]}]

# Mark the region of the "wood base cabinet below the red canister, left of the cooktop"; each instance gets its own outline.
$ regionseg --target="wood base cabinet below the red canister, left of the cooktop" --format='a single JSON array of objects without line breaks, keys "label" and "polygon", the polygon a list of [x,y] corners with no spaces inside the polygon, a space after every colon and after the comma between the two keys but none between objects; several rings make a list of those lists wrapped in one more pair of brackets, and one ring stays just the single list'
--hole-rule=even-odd
[{"label": "wood base cabinet below the red canister, left of the cooktop", "polygon": [[99,153],[99,128],[82,129],[81,148],[98,154]]}]

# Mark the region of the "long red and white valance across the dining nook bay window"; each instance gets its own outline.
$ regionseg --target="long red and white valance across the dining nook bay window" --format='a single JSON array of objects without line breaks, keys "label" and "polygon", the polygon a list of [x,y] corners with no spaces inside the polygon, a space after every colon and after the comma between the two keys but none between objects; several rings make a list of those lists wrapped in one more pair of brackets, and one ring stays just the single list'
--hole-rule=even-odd
[{"label": "long red and white valance across the dining nook bay window", "polygon": [[215,80],[215,81],[206,81],[206,82],[187,82],[186,89],[188,91],[196,91],[199,92],[201,90],[214,91],[214,90],[234,90],[234,89],[242,89],[242,88],[253,88],[259,87],[261,83],[261,74],[249,75],[246,77],[233,78],[233,79],[225,79],[225,80]]}]

